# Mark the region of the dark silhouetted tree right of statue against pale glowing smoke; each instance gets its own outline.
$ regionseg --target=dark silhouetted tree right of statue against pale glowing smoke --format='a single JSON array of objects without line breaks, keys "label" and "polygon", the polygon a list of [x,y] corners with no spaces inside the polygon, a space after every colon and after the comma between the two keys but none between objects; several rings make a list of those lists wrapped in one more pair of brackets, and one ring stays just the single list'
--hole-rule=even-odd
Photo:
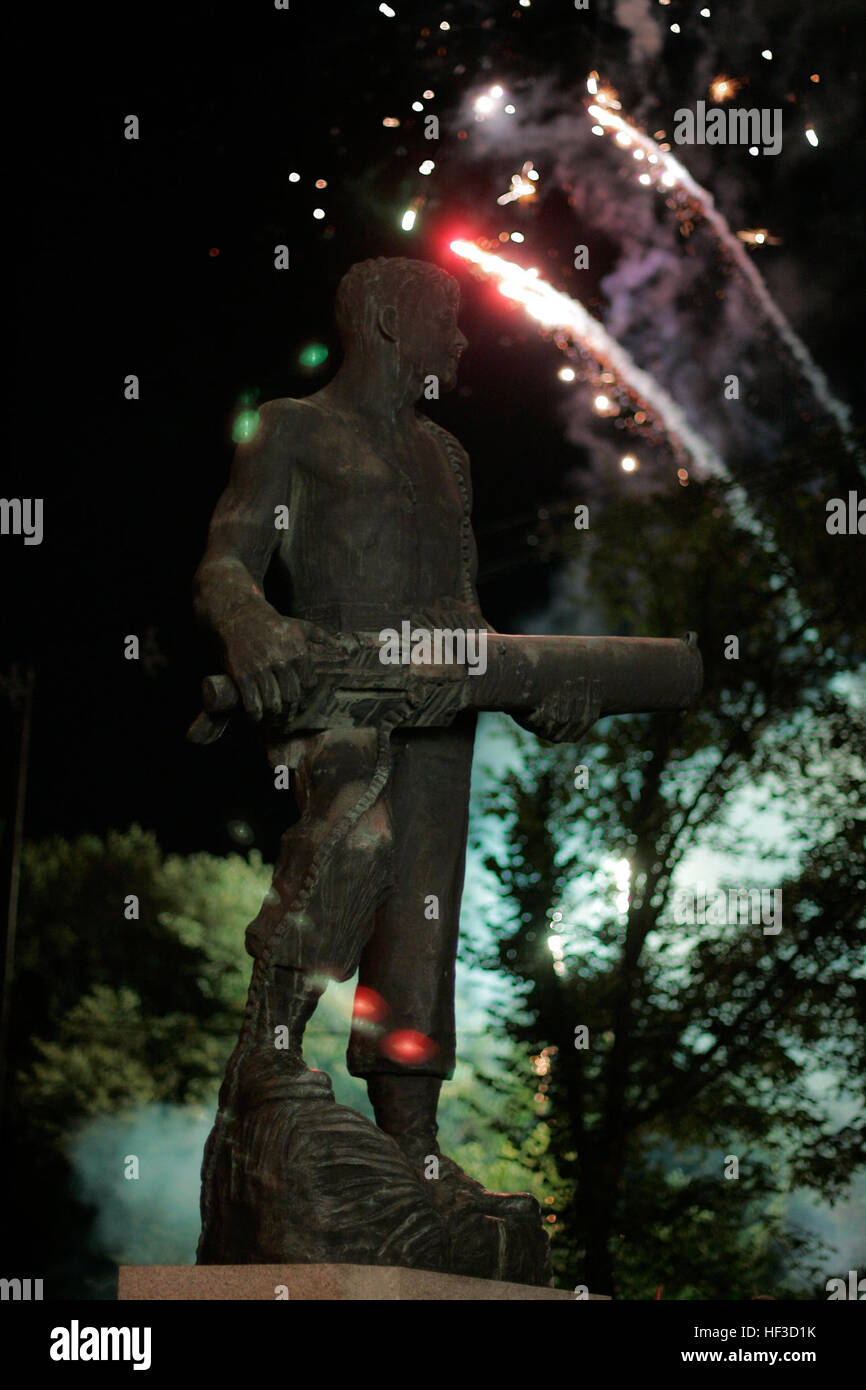
[{"label": "dark silhouetted tree right of statue against pale glowing smoke", "polygon": [[[575,603],[591,594],[605,631],[698,630],[703,699],[603,721],[580,753],[521,738],[524,770],[491,799],[505,912],[484,963],[514,981],[505,1024],[544,1059],[571,1193],[560,1273],[596,1293],[802,1289],[816,1250],[785,1227],[784,1195],[833,1200],[866,1159],[862,1112],[841,1122],[810,1084],[823,1068],[837,1102],[856,1099],[866,1002],[866,716],[844,689],[866,639],[858,539],[824,527],[835,463],[820,439],[780,460],[756,521],[719,482],[596,509]],[[781,891],[780,931],[731,899],[721,922],[676,920],[710,848],[745,874],[721,887]]]}]

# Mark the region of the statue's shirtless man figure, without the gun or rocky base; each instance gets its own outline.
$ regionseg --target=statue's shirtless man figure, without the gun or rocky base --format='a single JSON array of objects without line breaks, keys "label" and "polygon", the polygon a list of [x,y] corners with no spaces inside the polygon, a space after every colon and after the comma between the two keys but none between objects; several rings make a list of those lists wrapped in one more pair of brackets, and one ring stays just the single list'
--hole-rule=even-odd
[{"label": "statue's shirtless man figure, without the gun or rocky base", "polygon": [[[353,265],[336,295],[342,367],[311,396],[267,402],[235,453],[196,574],[196,610],[256,720],[297,709],[314,680],[310,655],[338,634],[399,630],[406,619],[488,628],[475,594],[468,457],[417,406],[430,378],[441,391],[456,384],[467,346],[457,303],[457,282],[425,261]],[[281,530],[275,516],[286,506]],[[289,581],[291,617],[264,596],[270,566]],[[569,730],[553,702],[528,727],[578,737],[594,717],[587,709]],[[379,1027],[353,1030],[348,1065],[367,1079],[379,1129],[413,1166],[438,1158],[438,1200],[507,1213],[531,1200],[485,1193],[436,1145],[439,1090],[455,1066],[474,728],[463,712],[446,728],[361,726],[286,744],[300,820],[247,929],[256,967],[229,1073],[268,1098],[321,1097],[329,1080],[303,1061],[304,1024],[327,981],[359,970],[357,1012],[373,1012]],[[279,1026],[289,1045],[277,1049]]]}]

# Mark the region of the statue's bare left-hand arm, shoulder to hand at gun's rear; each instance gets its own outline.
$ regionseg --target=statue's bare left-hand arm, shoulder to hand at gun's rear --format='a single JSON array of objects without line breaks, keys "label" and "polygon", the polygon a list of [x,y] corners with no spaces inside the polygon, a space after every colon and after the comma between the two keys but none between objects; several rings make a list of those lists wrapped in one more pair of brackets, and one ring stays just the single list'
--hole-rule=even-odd
[{"label": "statue's bare left-hand arm, shoulder to hand at gun's rear", "polygon": [[306,651],[304,626],[278,613],[263,589],[281,535],[277,507],[288,502],[292,457],[302,443],[292,404],[265,402],[256,435],[238,445],[193,581],[196,616],[221,642],[253,719],[296,705]]}]

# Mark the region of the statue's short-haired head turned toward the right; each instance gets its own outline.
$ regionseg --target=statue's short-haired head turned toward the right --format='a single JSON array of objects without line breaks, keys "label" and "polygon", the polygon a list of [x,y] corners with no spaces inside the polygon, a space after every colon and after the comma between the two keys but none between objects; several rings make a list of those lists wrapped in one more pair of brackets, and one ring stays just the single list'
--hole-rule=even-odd
[{"label": "statue's short-haired head turned toward the right", "polygon": [[336,327],[349,354],[395,345],[418,378],[439,378],[442,391],[457,381],[466,338],[457,328],[460,286],[430,261],[379,256],[359,261],[336,289]]}]

